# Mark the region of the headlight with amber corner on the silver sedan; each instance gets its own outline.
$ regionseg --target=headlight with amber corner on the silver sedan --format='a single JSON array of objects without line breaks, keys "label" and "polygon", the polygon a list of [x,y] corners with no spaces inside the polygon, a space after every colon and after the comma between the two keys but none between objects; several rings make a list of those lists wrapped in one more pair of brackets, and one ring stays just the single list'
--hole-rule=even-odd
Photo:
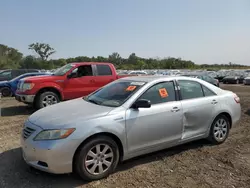
[{"label": "headlight with amber corner on the silver sedan", "polygon": [[54,129],[54,130],[44,130],[36,135],[35,141],[38,140],[57,140],[67,138],[71,135],[75,129]]}]

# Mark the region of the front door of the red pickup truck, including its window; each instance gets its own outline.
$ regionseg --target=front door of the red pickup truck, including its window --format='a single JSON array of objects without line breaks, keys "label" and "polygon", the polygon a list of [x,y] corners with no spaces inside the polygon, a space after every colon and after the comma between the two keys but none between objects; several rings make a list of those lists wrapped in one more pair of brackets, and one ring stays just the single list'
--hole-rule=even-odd
[{"label": "front door of the red pickup truck, including its window", "polygon": [[72,70],[71,74],[74,76],[67,78],[64,82],[63,93],[65,99],[83,97],[95,91],[95,76],[91,64],[78,66]]}]

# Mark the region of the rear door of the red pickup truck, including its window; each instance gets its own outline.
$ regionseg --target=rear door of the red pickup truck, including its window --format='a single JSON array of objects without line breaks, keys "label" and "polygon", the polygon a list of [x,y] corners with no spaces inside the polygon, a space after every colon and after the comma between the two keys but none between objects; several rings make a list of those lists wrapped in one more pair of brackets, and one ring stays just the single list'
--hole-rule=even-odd
[{"label": "rear door of the red pickup truck, including its window", "polygon": [[94,65],[95,77],[94,84],[96,89],[105,86],[106,84],[115,80],[115,75],[107,64]]}]

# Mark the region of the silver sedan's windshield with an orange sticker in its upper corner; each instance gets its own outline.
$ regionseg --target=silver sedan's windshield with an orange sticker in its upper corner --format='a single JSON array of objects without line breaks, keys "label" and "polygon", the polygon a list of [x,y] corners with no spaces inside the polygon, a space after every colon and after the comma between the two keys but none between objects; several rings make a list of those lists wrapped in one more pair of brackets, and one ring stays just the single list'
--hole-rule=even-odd
[{"label": "silver sedan's windshield with an orange sticker in its upper corner", "polygon": [[118,81],[101,88],[84,100],[102,106],[118,107],[138,91],[146,82]]}]

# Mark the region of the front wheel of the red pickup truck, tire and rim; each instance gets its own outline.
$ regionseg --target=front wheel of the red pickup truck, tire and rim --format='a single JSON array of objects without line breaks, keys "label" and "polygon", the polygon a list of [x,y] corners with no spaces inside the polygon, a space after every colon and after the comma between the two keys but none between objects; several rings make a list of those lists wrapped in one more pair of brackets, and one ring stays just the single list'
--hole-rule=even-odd
[{"label": "front wheel of the red pickup truck, tire and rim", "polygon": [[37,100],[35,101],[36,103],[36,108],[41,109],[56,103],[59,103],[60,99],[58,95],[52,91],[46,91],[41,93],[38,97]]}]

